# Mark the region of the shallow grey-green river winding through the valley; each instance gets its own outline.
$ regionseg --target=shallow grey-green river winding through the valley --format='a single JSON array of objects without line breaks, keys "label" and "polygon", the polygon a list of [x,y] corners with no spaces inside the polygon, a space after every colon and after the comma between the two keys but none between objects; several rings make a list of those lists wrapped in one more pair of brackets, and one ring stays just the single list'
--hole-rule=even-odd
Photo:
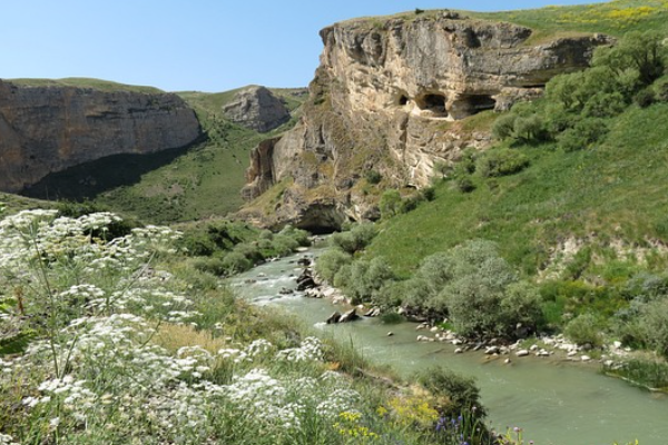
[{"label": "shallow grey-green river winding through the valley", "polygon": [[[638,438],[640,445],[668,445],[668,396],[651,394],[598,373],[596,365],[552,359],[515,358],[511,364],[489,359],[480,353],[454,354],[443,343],[418,343],[415,325],[387,326],[377,319],[345,325],[324,325],[334,310],[328,300],[299,294],[281,296],[283,287],[295,288],[301,273],[296,259],[317,256],[321,248],[261,265],[232,279],[244,298],[276,307],[343,342],[352,342],[376,363],[389,364],[410,376],[415,370],[443,365],[475,377],[489,423],[524,429],[524,438],[537,445],[612,445]],[[249,283],[254,280],[254,283]],[[394,335],[389,337],[387,332]]]}]

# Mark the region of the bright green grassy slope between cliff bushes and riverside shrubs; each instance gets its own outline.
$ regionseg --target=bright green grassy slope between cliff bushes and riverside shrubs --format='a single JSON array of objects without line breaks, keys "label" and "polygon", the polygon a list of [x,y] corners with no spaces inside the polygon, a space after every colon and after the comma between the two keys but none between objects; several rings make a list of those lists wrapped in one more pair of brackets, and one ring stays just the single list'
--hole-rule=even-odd
[{"label": "bright green grassy slope between cliff bushes and riverside shrubs", "polygon": [[656,125],[666,112],[666,103],[631,107],[602,144],[586,151],[519,147],[530,158],[525,170],[475,177],[471,194],[442,182],[433,202],[387,221],[370,255],[384,256],[406,276],[428,255],[484,238],[533,275],[549,260],[550,248],[567,238],[666,243],[668,128]]}]

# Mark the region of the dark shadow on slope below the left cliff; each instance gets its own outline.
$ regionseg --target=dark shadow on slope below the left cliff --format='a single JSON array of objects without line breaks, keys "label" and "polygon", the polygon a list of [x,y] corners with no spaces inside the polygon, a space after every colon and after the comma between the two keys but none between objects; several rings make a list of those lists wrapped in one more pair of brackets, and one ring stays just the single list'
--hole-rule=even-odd
[{"label": "dark shadow on slope below the left cliff", "polygon": [[39,182],[23,188],[19,195],[48,200],[94,199],[105,191],[139,182],[143,175],[173,162],[199,142],[202,140],[154,154],[112,155],[79,164],[47,175]]}]

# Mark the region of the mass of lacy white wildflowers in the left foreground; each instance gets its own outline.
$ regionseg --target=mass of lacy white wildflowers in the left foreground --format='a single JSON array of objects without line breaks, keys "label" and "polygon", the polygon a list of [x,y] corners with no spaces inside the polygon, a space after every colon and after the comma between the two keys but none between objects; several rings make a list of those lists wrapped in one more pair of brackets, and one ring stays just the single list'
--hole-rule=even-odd
[{"label": "mass of lacy white wildflowers in the left foreground", "polygon": [[[334,422],[358,406],[360,394],[334,372],[315,378],[293,375],[284,364],[281,376],[261,368],[288,362],[294,372],[322,362],[315,337],[283,350],[265,339],[216,354],[157,346],[151,339],[160,323],[196,315],[189,298],[167,287],[171,275],[147,265],[180,235],[151,226],[110,241],[95,238],[117,220],[31,210],[0,221],[0,288],[24,299],[23,318],[43,317],[48,325],[22,355],[0,359],[0,390],[23,388],[23,409],[43,421],[36,429],[77,435],[97,425],[125,428],[138,443],[206,443],[223,417],[285,437],[307,424],[306,416]],[[209,380],[219,369],[229,373],[228,385]],[[12,441],[0,435],[0,445]]]}]

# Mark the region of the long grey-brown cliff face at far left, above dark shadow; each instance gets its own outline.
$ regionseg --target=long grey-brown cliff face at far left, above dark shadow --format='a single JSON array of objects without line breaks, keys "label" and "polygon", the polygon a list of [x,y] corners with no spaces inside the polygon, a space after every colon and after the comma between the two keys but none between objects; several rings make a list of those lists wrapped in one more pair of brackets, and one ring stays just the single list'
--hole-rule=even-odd
[{"label": "long grey-brown cliff face at far left, above dark shadow", "polygon": [[0,81],[0,190],[109,155],[183,147],[199,135],[195,112],[176,95]]}]

